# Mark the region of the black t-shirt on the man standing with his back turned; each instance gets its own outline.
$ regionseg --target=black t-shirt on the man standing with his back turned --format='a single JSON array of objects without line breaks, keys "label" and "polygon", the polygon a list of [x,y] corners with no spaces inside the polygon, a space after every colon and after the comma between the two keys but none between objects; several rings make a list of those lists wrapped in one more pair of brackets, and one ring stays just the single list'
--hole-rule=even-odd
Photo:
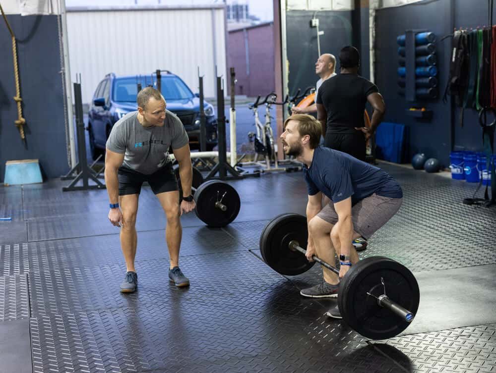
[{"label": "black t-shirt on the man standing with his back turned", "polygon": [[363,127],[367,96],[374,92],[379,92],[377,86],[360,75],[338,74],[325,80],[315,103],[327,111],[327,132],[349,134]]}]

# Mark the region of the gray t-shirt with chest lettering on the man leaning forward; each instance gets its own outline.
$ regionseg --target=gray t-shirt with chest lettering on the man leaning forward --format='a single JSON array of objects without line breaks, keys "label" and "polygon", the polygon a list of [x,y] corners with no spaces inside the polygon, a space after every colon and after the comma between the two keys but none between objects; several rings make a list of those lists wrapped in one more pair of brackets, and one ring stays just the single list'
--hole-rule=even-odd
[{"label": "gray t-shirt with chest lettering on the man leaning forward", "polygon": [[131,111],[119,119],[107,140],[107,149],[124,154],[123,166],[149,175],[171,162],[169,148],[184,147],[189,139],[181,119],[166,110],[163,127],[143,127]]}]

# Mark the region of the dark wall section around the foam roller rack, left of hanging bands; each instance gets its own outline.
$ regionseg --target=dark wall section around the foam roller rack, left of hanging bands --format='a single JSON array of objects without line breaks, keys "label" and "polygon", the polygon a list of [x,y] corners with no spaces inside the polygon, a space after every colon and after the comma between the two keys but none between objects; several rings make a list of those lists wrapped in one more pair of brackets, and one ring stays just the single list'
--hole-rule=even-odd
[{"label": "dark wall section around the foam roller rack, left of hanging bands", "polygon": [[[452,19],[449,0],[425,1],[410,5],[379,9],[376,12],[375,30],[375,83],[386,103],[384,121],[405,124],[409,137],[408,159],[418,152],[434,157],[442,164],[449,164],[451,151],[450,106],[438,97],[434,100],[407,102],[398,95],[397,73],[398,45],[396,37],[409,29],[427,29],[436,35],[438,54],[439,96],[446,86],[449,73],[450,41],[440,42],[449,33]],[[407,116],[412,106],[433,110],[432,120],[419,120]]]}]

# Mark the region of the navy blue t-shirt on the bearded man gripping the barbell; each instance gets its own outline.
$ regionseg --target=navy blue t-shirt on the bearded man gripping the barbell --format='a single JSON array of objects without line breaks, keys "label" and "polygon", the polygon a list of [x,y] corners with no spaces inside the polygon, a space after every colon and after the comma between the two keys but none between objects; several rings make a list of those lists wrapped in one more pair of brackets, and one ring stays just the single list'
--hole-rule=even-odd
[{"label": "navy blue t-shirt on the bearded man gripping the barbell", "polygon": [[322,192],[333,203],[351,197],[352,205],[377,194],[402,198],[400,185],[388,173],[349,154],[319,146],[310,167],[303,168],[309,195]]}]

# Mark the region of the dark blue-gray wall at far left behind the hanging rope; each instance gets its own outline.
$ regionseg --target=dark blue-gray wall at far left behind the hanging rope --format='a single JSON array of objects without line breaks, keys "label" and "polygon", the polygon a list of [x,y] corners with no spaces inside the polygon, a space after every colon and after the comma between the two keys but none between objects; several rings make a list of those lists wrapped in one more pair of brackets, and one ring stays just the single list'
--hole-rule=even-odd
[{"label": "dark blue-gray wall at far left behind the hanging rope", "polygon": [[69,169],[65,141],[61,57],[57,16],[8,15],[17,40],[26,145],[17,120],[12,42],[3,20],[0,27],[0,182],[5,161],[39,159],[44,177]]}]

